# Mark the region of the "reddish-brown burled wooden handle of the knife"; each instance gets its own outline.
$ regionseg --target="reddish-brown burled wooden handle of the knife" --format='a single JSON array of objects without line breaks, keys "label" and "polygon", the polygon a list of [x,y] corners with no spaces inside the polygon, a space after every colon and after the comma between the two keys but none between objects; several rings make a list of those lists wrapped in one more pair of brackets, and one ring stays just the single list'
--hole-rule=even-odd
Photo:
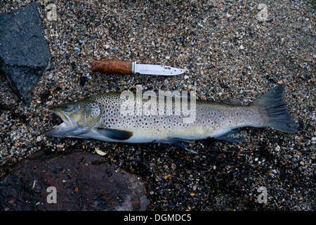
[{"label": "reddish-brown burled wooden handle of the knife", "polygon": [[131,75],[131,62],[124,62],[119,60],[91,60],[92,72],[106,72],[106,73],[120,73],[124,75]]}]

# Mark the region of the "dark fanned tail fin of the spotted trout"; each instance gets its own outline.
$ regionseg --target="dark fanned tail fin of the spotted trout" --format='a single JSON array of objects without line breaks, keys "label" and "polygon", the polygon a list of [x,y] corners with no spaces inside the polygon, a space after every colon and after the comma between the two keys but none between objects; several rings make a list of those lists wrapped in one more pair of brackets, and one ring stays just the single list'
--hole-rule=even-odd
[{"label": "dark fanned tail fin of the spotted trout", "polygon": [[284,102],[283,91],[284,85],[276,86],[251,104],[260,105],[268,112],[266,127],[273,127],[278,131],[294,134],[298,130],[298,126],[289,115],[287,105]]}]

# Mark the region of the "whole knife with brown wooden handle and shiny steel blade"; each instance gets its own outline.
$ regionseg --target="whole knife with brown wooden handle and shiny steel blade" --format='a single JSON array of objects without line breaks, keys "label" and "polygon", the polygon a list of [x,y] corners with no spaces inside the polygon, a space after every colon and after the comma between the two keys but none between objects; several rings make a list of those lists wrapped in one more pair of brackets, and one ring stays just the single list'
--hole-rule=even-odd
[{"label": "whole knife with brown wooden handle and shiny steel blade", "polygon": [[171,68],[165,65],[138,64],[119,60],[91,60],[92,72],[119,73],[124,75],[181,75],[185,70]]}]

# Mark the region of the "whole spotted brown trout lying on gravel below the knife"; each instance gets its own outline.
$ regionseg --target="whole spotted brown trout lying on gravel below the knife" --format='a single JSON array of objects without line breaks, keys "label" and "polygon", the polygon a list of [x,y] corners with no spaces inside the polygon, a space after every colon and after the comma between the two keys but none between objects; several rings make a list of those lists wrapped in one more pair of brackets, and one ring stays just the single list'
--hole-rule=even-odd
[{"label": "whole spotted brown trout lying on gravel below the knife", "polygon": [[[195,116],[191,122],[183,120],[188,115],[176,115],[175,101],[172,101],[169,113],[166,113],[166,105],[160,113],[157,113],[158,107],[152,106],[150,113],[140,114],[133,107],[129,113],[122,113],[124,103],[125,106],[126,103],[130,106],[137,104],[135,98],[130,96],[126,100],[119,93],[99,94],[51,108],[63,122],[46,134],[100,141],[171,144],[207,138],[238,141],[230,139],[228,134],[239,127],[273,127],[293,134],[297,131],[297,125],[287,111],[283,89],[283,86],[276,86],[249,105],[237,101],[197,100],[195,105],[190,105],[190,110],[194,112],[191,113]],[[143,98],[141,103],[146,103],[146,100],[149,101]],[[189,101],[193,102],[190,98]]]}]

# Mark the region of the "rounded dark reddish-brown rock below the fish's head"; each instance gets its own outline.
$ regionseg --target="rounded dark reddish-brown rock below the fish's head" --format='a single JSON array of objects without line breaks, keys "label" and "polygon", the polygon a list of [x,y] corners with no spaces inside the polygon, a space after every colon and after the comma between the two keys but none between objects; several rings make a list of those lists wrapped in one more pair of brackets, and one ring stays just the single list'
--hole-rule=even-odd
[{"label": "rounded dark reddish-brown rock below the fish's head", "polygon": [[[47,203],[47,188],[56,202]],[[83,150],[22,160],[0,180],[0,210],[146,210],[144,182]]]}]

